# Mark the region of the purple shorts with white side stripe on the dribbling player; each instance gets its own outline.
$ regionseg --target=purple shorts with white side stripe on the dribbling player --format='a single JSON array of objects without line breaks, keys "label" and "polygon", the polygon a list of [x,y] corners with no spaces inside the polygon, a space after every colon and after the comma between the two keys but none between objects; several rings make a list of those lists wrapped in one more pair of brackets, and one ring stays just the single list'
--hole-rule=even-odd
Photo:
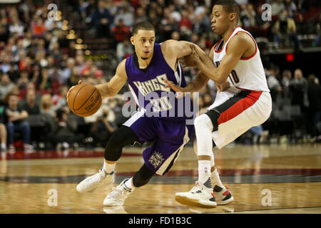
[{"label": "purple shorts with white side stripe on the dribbling player", "polygon": [[177,160],[184,146],[195,138],[194,125],[183,121],[146,117],[142,112],[133,115],[123,125],[136,133],[140,142],[154,141],[143,151],[146,166],[158,175],[164,175]]}]

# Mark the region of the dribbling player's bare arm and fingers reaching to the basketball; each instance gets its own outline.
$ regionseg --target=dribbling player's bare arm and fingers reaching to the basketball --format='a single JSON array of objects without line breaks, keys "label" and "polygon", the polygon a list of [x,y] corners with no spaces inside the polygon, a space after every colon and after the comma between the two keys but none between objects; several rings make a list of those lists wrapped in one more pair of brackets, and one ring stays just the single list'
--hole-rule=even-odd
[{"label": "dribbling player's bare arm and fingers reaching to the basketball", "polygon": [[[101,93],[102,98],[108,98],[113,97],[116,95],[121,88],[125,85],[127,81],[127,75],[126,75],[126,68],[125,68],[126,59],[121,61],[121,63],[118,64],[116,69],[116,74],[111,78],[111,81],[108,81],[108,83],[99,84],[96,86],[96,88]],[[78,81],[78,84],[83,83],[83,81]],[[66,95],[67,102],[68,102],[68,95],[69,92],[73,89],[74,86],[72,86]]]}]

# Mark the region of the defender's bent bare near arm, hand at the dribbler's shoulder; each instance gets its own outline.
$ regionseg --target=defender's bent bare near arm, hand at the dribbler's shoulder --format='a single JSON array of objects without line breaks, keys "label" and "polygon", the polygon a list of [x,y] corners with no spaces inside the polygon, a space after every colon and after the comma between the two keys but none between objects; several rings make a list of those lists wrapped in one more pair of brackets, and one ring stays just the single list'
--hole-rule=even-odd
[{"label": "defender's bent bare near arm, hand at the dribbler's shoulder", "polygon": [[233,68],[235,68],[235,65],[240,61],[243,53],[245,53],[251,45],[253,45],[253,41],[246,36],[241,35],[231,38],[228,43],[228,51],[220,62],[220,66],[217,68],[213,64],[213,59],[210,59],[200,47],[196,45],[192,45],[191,47],[193,53],[196,54],[195,61],[200,71],[215,83],[221,84],[225,83],[230,72],[233,71]]}]

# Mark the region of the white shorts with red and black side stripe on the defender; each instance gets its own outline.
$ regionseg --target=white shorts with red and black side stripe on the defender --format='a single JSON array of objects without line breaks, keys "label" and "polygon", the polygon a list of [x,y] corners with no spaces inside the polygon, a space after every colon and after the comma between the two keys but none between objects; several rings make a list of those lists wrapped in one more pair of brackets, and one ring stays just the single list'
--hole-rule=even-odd
[{"label": "white shorts with red and black side stripe on the defender", "polygon": [[219,113],[212,138],[221,149],[250,128],[264,123],[270,117],[272,99],[269,92],[230,89],[216,95],[208,113],[212,110]]}]

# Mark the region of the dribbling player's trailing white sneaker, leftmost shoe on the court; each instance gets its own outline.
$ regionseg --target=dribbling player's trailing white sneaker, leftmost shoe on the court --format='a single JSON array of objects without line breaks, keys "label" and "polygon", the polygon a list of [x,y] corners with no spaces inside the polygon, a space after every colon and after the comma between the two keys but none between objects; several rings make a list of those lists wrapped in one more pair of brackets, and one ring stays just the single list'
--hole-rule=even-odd
[{"label": "dribbling player's trailing white sneaker, leftmost shoe on the court", "polygon": [[107,173],[103,168],[99,170],[95,175],[87,177],[85,180],[80,182],[76,190],[78,192],[93,192],[101,184],[113,184],[115,181],[115,172]]}]

